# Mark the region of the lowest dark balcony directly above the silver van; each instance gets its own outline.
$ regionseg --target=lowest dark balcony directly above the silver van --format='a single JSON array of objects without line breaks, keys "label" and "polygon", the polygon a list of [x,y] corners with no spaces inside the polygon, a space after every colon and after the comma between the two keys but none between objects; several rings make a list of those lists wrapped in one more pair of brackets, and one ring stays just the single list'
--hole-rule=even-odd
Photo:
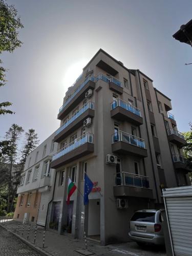
[{"label": "lowest dark balcony directly above the silver van", "polygon": [[131,173],[115,174],[115,197],[140,197],[153,199],[153,191],[149,188],[148,177]]}]

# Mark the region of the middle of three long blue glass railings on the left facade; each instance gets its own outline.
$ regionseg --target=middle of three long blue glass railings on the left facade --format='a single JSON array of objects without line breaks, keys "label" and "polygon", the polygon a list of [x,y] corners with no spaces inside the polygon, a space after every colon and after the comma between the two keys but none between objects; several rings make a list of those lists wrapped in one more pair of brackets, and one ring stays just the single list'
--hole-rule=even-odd
[{"label": "middle of three long blue glass railings on the left facade", "polygon": [[62,130],[64,130],[70,123],[72,123],[74,120],[76,120],[80,115],[82,115],[86,110],[92,109],[94,110],[94,102],[88,101],[86,102],[79,110],[77,110],[71,118],[69,118],[65,123],[63,123],[62,126],[57,129],[55,134],[59,134]]}]

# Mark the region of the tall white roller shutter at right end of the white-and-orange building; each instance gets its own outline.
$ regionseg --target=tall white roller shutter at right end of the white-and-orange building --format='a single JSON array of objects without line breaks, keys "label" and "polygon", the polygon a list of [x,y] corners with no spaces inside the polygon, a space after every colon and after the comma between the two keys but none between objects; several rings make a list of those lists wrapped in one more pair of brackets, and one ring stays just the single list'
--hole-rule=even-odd
[{"label": "tall white roller shutter at right end of the white-and-orange building", "polygon": [[37,225],[41,225],[44,227],[46,225],[49,197],[50,197],[50,191],[41,193],[39,211],[38,211],[38,217],[37,217]]}]

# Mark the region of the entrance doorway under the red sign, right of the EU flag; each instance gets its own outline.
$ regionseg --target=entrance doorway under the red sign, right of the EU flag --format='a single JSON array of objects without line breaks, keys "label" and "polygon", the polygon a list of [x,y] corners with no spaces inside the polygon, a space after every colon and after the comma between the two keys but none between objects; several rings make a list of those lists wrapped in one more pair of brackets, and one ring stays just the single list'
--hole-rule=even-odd
[{"label": "entrance doorway under the red sign, right of the EU flag", "polygon": [[89,200],[88,237],[100,241],[100,199]]}]

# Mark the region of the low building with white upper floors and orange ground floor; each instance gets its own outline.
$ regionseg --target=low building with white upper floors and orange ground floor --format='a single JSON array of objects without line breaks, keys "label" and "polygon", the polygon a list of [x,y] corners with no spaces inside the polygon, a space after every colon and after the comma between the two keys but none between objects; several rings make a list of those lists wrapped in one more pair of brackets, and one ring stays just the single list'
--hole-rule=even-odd
[{"label": "low building with white upper floors and orange ground floor", "polygon": [[54,134],[42,142],[27,157],[24,172],[17,189],[18,199],[14,219],[36,222],[45,226],[48,204],[52,198],[54,170],[50,168],[52,155],[57,151]]}]

